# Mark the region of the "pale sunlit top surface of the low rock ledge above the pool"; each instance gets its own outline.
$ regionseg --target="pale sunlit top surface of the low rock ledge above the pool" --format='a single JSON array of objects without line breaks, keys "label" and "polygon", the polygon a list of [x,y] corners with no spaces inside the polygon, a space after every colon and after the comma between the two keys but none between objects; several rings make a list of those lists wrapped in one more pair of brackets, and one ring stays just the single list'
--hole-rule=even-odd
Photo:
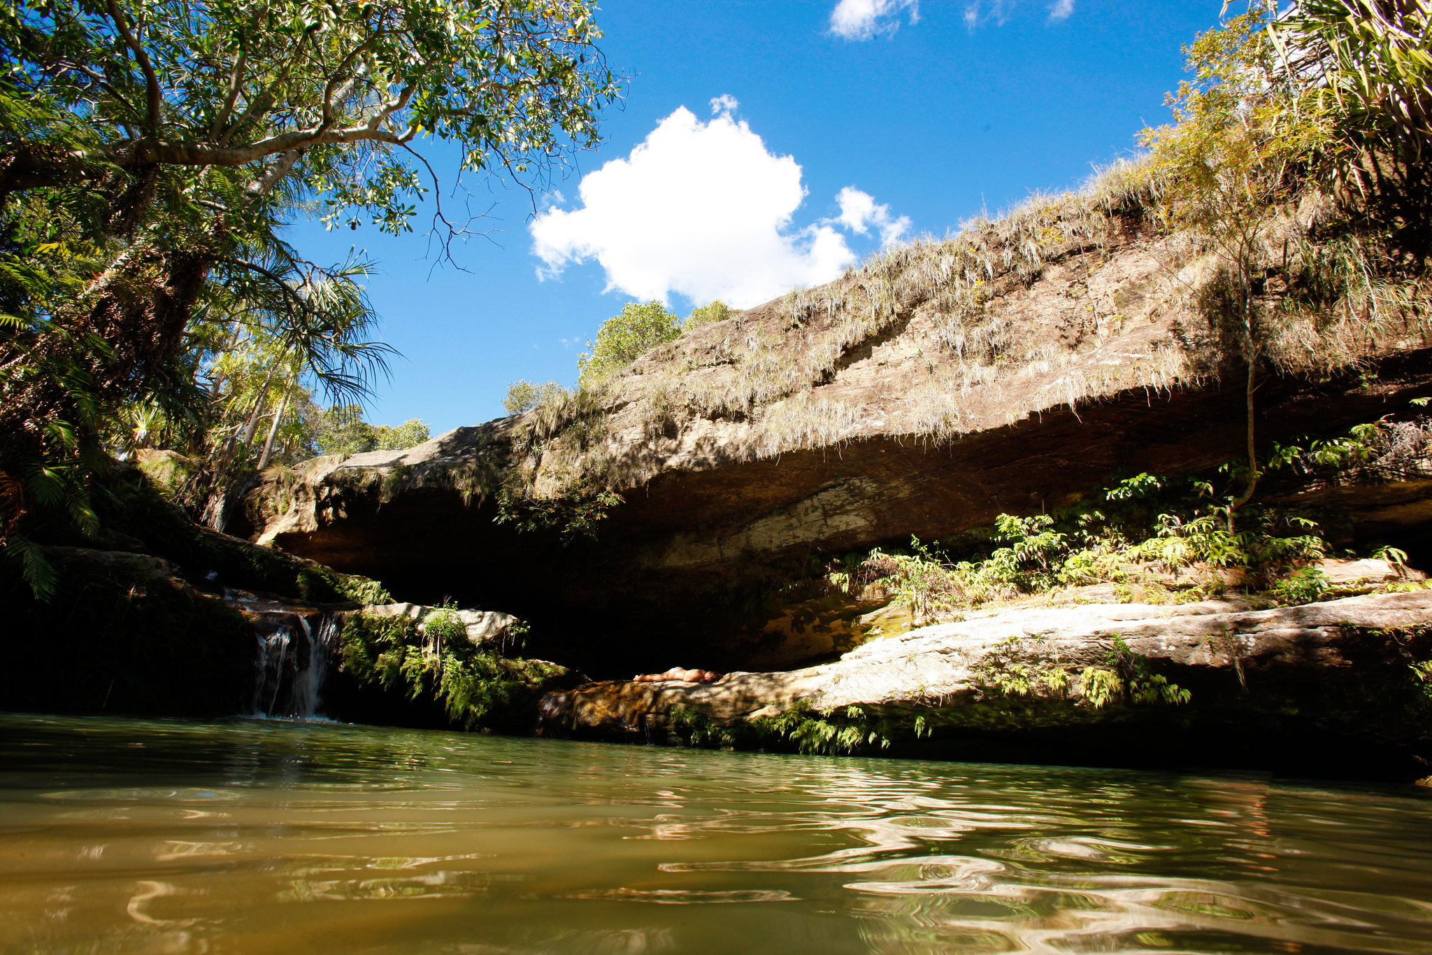
[{"label": "pale sunlit top surface of the low rock ledge above the pool", "polygon": [[[838,661],[775,673],[727,673],[716,683],[589,683],[543,700],[547,732],[647,733],[676,709],[715,723],[773,716],[799,700],[845,706],[958,706],[988,692],[1011,664],[1104,666],[1128,649],[1181,667],[1356,679],[1345,643],[1366,631],[1432,626],[1432,591],[1385,593],[1249,610],[1232,601],[1184,606],[1085,604],[1022,609],[888,636]],[[1390,639],[1390,637],[1389,637]],[[1071,693],[1078,697],[1078,690]]]}]

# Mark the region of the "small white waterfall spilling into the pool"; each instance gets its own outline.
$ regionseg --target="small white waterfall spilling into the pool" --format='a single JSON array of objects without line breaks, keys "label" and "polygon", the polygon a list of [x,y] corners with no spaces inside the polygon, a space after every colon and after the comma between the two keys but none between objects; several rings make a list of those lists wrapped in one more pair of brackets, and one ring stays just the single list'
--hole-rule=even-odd
[{"label": "small white waterfall spilling into the pool", "polygon": [[338,614],[324,614],[314,633],[308,619],[295,613],[259,613],[253,716],[314,719],[319,716],[328,660],[338,646]]}]

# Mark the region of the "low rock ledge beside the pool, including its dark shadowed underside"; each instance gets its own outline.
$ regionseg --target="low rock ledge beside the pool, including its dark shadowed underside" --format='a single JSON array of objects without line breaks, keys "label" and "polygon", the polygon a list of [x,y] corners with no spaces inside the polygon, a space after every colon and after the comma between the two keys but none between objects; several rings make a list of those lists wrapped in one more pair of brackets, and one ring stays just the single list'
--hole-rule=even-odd
[{"label": "low rock ledge beside the pool, including its dark shadowed underside", "polygon": [[[1432,656],[1429,630],[1426,590],[1272,610],[1232,601],[1022,609],[871,640],[800,670],[727,673],[710,684],[591,683],[548,694],[543,732],[664,742],[683,722],[739,729],[792,707],[858,707],[905,755],[998,759],[991,735],[1030,755],[1042,735],[1068,747],[1063,757],[1037,755],[1044,762],[1085,762],[1077,753],[1103,740],[1093,762],[1177,765],[1210,752],[1219,740],[1206,735],[1233,733],[1213,762],[1411,782],[1425,773],[1418,766],[1432,765],[1432,686],[1411,669]],[[1131,704],[1126,696],[1094,706],[1080,676],[1110,667],[1121,650],[1116,639],[1164,686],[1190,689],[1189,702]],[[1157,737],[1141,745],[1156,749],[1120,755],[1127,730],[1140,727]],[[1253,745],[1260,733],[1270,736]],[[1368,762],[1346,773],[1317,766],[1307,760],[1319,746],[1329,756],[1365,749]]]}]

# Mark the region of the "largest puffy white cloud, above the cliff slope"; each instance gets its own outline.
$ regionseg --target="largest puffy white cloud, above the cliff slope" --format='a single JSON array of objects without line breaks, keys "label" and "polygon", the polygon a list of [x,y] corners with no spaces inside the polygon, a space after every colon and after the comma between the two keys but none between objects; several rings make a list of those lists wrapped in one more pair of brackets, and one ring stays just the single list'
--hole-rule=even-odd
[{"label": "largest puffy white cloud, above the cliff slope", "polygon": [[760,136],[732,119],[733,99],[716,97],[712,106],[717,116],[705,123],[677,109],[630,156],[584,176],[580,208],[538,215],[530,226],[544,263],[538,275],[596,259],[609,291],[642,299],[677,292],[749,308],[853,265],[838,226],[856,233],[874,226],[882,241],[909,228],[853,188],[841,192],[838,218],[793,228],[806,196],[800,166],[768,152]]}]

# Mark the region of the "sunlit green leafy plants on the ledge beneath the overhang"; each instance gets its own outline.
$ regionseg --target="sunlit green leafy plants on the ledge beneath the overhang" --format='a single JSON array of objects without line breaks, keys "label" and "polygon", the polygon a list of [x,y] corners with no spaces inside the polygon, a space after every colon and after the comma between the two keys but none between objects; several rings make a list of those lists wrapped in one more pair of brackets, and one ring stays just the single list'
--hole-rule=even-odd
[{"label": "sunlit green leafy plants on the ledge beneath the overhang", "polygon": [[[1432,422],[1389,415],[1342,437],[1274,445],[1266,467],[1349,480],[1362,468],[1395,471],[1429,450]],[[916,624],[1087,584],[1113,584],[1126,600],[1153,603],[1240,593],[1293,604],[1330,594],[1317,561],[1333,551],[1327,533],[1336,515],[1249,505],[1240,527],[1230,528],[1227,501],[1243,483],[1246,468],[1233,462],[1210,475],[1137,474],[1048,514],[1001,514],[992,527],[945,541],[849,554],[829,568],[828,581],[842,593],[894,590]],[[1372,556],[1406,558],[1385,544]]]}]

